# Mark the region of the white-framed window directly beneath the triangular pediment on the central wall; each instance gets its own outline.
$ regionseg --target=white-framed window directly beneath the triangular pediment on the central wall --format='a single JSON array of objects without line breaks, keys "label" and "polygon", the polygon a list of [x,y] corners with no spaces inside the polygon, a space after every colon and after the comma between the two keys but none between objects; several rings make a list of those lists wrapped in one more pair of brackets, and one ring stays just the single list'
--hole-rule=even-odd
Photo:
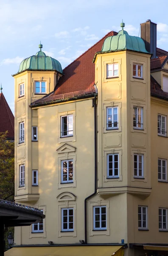
[{"label": "white-framed window directly beneath the triangular pediment on the central wall", "polygon": [[73,160],[61,161],[62,183],[73,182]]}]

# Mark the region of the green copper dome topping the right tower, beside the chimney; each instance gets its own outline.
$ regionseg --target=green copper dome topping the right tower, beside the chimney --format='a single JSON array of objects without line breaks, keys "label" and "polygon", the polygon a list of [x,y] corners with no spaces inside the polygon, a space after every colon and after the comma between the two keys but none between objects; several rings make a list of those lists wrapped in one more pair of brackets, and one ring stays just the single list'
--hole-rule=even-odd
[{"label": "green copper dome topping the right tower, beside the chimney", "polygon": [[123,30],[124,26],[125,24],[122,22],[122,30],[118,32],[118,35],[109,36],[104,40],[101,52],[132,50],[135,52],[150,53],[146,50],[143,39],[129,35],[125,30]]}]

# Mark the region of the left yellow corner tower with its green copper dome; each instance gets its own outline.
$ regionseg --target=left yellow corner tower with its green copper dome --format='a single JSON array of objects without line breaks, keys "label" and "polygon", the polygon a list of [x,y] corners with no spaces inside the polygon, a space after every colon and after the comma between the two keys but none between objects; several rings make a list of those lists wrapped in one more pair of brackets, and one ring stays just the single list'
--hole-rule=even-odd
[{"label": "left yellow corner tower with its green copper dome", "polygon": [[[29,108],[31,102],[51,93],[62,67],[59,61],[42,52],[23,60],[14,74],[15,84],[15,200],[34,204],[39,198],[38,173],[38,110]],[[32,166],[33,165],[33,166]],[[32,170],[33,173],[32,173]],[[34,181],[32,180],[34,178]],[[34,182],[34,186],[32,186]]]}]

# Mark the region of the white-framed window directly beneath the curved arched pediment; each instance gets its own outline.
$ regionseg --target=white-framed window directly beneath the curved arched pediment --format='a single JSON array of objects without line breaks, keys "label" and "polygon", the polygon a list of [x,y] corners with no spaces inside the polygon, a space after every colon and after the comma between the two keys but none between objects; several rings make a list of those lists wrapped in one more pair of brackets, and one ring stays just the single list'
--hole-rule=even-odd
[{"label": "white-framed window directly beneath the curved arched pediment", "polygon": [[73,231],[73,208],[62,209],[62,231]]}]

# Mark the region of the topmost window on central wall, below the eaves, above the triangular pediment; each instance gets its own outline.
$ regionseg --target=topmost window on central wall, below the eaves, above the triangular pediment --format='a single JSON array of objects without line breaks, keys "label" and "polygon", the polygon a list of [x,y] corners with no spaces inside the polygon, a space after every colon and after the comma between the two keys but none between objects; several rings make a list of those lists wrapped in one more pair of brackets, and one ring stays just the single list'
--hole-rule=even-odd
[{"label": "topmost window on central wall, below the eaves, above the triangular pediment", "polygon": [[61,116],[61,137],[73,136],[73,115]]}]

